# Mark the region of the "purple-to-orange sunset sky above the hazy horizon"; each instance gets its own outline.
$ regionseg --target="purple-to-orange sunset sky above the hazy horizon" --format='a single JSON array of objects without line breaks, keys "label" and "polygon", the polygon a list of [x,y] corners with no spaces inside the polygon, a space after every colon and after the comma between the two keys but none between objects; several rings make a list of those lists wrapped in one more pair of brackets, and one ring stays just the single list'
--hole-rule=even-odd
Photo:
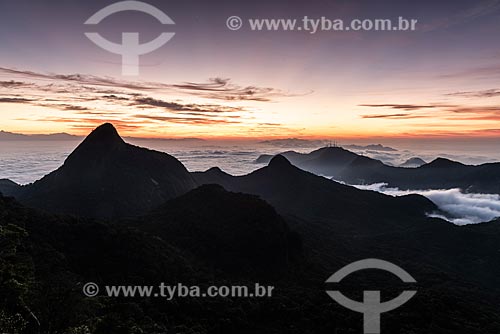
[{"label": "purple-to-orange sunset sky above the hazy horizon", "polygon": [[[173,18],[176,36],[141,56],[132,78],[120,75],[119,56],[83,34],[83,22],[109,3],[0,4],[10,13],[0,30],[0,130],[86,135],[110,122],[121,135],[147,138],[500,137],[499,1],[216,1],[209,9],[151,1]],[[230,31],[231,14],[419,24],[413,32]],[[161,31],[137,13],[109,17],[98,30],[117,41],[130,26],[145,41]]]}]

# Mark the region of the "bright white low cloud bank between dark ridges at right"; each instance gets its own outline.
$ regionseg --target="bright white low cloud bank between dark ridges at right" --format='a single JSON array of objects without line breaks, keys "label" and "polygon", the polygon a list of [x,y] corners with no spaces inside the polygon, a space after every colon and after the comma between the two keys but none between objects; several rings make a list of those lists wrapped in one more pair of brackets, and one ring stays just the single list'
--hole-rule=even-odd
[{"label": "bright white low cloud bank between dark ridges at right", "polygon": [[500,217],[500,195],[467,194],[460,189],[399,190],[388,188],[386,183],[356,185],[356,188],[374,190],[391,196],[419,194],[433,201],[444,214],[430,214],[456,225],[477,224]]}]

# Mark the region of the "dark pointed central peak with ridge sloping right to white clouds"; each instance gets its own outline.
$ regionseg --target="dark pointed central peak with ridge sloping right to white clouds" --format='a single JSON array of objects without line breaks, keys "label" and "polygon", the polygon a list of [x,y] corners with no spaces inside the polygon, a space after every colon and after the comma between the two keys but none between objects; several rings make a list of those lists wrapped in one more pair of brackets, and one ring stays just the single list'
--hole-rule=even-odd
[{"label": "dark pointed central peak with ridge sloping right to white clouds", "polygon": [[[426,212],[437,209],[422,196],[394,198],[339,184],[293,166],[282,155],[244,176],[216,169],[194,175],[199,183],[218,183],[230,191],[259,195],[283,214],[335,221],[339,230],[403,229],[410,223],[408,217],[424,217]],[[396,222],[398,215],[405,219]]]}]

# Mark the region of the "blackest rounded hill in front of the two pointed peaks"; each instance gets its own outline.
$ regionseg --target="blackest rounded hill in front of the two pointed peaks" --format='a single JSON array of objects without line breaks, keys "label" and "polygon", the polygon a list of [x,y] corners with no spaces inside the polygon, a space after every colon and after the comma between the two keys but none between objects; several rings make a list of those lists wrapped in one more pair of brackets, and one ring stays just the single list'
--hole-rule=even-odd
[{"label": "blackest rounded hill in front of the two pointed peaks", "polygon": [[136,226],[211,267],[247,277],[283,274],[300,254],[300,239],[273,207],[220,185],[201,186],[170,200]]}]

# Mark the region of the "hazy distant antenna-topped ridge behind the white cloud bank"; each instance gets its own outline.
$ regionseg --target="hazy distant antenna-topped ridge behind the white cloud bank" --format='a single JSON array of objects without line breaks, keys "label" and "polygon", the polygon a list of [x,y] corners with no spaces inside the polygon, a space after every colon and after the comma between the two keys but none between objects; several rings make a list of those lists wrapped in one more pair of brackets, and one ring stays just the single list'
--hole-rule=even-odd
[{"label": "hazy distant antenna-topped ridge behind the white cloud bank", "polygon": [[[469,192],[500,194],[500,163],[478,166],[437,158],[418,168],[393,167],[340,147],[308,154],[285,152],[290,161],[315,174],[349,184],[387,183],[400,189],[461,188]],[[264,161],[268,157],[262,157]]]}]

